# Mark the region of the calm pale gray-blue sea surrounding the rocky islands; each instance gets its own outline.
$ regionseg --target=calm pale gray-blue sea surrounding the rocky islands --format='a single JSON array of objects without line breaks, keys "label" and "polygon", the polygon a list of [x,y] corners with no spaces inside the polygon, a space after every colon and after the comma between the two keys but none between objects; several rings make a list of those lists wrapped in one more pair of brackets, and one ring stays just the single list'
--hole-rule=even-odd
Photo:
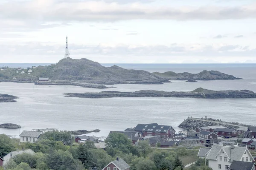
[{"label": "calm pale gray-blue sea surrounding the rocky islands", "polygon": [[[27,68],[50,63],[0,63],[0,66]],[[102,64],[112,66],[114,64]],[[149,72],[174,71],[199,73],[217,70],[232,74],[239,80],[212,80],[186,82],[171,80],[163,85],[113,85],[114,91],[192,91],[196,88],[211,90],[242,90],[256,92],[256,64],[115,64],[127,69]],[[110,86],[110,85],[106,85]],[[17,102],[0,103],[0,124],[15,123],[20,129],[0,128],[0,134],[18,136],[23,130],[56,128],[58,130],[94,130],[89,135],[108,136],[112,131],[123,131],[138,123],[178,125],[188,116],[211,117],[227,122],[256,125],[256,99],[194,99],[194,98],[102,98],[87,99],[64,97],[64,93],[113,91],[76,86],[34,85],[33,83],[1,82],[0,94],[18,96]]]}]

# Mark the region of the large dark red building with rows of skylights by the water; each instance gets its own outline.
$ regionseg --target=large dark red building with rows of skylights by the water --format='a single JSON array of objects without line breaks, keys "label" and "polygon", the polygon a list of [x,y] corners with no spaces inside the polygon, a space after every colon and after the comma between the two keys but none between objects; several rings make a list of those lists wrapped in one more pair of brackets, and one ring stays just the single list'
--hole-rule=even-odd
[{"label": "large dark red building with rows of skylights by the water", "polygon": [[175,137],[175,130],[172,126],[158,125],[157,123],[138,124],[134,131],[143,133],[143,136],[158,136],[162,139]]}]

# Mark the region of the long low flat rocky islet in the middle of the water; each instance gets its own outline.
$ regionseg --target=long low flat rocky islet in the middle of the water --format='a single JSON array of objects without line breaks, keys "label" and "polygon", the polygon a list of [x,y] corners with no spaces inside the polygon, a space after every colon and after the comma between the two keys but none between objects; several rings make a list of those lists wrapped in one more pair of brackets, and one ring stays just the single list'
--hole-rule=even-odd
[{"label": "long low flat rocky islet in the middle of the water", "polygon": [[190,92],[180,91],[150,91],[142,90],[135,92],[120,92],[120,91],[102,91],[97,93],[68,93],[65,97],[80,97],[80,98],[111,98],[111,97],[190,97],[204,99],[220,99],[220,98],[256,98],[256,93],[248,90],[240,91],[212,91],[204,88],[197,88]]}]

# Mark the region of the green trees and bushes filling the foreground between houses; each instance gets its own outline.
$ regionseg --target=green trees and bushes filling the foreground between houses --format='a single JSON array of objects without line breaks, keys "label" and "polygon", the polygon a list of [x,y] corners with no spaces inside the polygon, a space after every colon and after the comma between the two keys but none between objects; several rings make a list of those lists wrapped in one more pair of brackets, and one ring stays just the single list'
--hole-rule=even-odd
[{"label": "green trees and bushes filling the foreground between houses", "polygon": [[[20,146],[15,146],[17,140],[1,135],[0,150],[1,156],[22,147],[35,151],[34,155],[23,153],[14,156],[6,164],[6,170],[92,170],[93,167],[101,170],[116,157],[126,161],[131,170],[183,170],[183,158],[196,158],[198,153],[198,150],[186,148],[152,148],[147,141],[133,145],[122,133],[111,133],[105,142],[106,150],[97,149],[90,141],[74,144],[67,131],[51,131],[44,133],[35,143],[21,143]],[[203,163],[199,161],[191,167],[194,168],[192,170],[209,170],[201,169]]]}]

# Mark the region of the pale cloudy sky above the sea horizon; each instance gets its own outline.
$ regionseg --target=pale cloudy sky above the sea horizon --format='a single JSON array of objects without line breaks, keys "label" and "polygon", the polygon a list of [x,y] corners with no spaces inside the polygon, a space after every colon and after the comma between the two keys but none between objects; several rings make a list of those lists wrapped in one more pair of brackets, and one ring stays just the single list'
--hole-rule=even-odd
[{"label": "pale cloudy sky above the sea horizon", "polygon": [[0,63],[256,63],[256,0],[0,0]]}]

